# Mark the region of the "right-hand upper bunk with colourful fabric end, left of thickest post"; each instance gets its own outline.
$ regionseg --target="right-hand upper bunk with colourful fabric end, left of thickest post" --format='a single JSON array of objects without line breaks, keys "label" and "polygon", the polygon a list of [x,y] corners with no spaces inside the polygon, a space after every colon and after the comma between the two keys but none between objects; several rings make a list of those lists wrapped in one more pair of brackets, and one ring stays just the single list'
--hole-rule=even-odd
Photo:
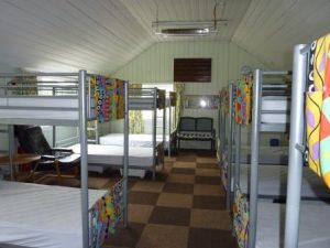
[{"label": "right-hand upper bunk with colourful fabric end, left of thickest post", "polygon": [[289,72],[255,69],[234,84],[235,122],[260,122],[258,131],[286,132],[289,122]]}]

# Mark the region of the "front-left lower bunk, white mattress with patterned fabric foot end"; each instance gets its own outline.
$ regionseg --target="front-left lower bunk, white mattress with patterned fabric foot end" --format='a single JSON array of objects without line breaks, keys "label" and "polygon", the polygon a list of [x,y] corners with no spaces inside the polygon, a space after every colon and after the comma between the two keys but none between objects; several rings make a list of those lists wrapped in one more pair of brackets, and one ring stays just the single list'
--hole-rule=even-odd
[{"label": "front-left lower bunk, white mattress with patterned fabric foot end", "polygon": [[[0,180],[0,247],[81,248],[80,192]],[[122,220],[122,181],[88,194],[89,242],[99,248]]]}]

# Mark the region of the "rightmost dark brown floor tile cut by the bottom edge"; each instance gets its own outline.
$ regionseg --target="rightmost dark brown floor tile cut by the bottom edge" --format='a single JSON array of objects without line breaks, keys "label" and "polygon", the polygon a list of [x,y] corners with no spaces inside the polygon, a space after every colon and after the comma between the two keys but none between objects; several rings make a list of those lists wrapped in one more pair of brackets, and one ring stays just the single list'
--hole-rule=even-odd
[{"label": "rightmost dark brown floor tile cut by the bottom edge", "polygon": [[188,248],[237,248],[230,230],[190,228]]}]

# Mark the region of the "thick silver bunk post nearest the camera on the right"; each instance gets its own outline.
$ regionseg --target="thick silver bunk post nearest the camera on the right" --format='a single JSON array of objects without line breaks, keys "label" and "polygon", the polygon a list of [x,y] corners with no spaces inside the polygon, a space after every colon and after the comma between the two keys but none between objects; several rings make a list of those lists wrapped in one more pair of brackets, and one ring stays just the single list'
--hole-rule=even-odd
[{"label": "thick silver bunk post nearest the camera on the right", "polygon": [[304,46],[305,45],[299,44],[294,48],[289,161],[284,236],[285,248],[298,247],[302,153],[296,149],[296,144],[302,144],[304,138],[304,91],[306,89],[307,62],[306,54],[300,53]]}]

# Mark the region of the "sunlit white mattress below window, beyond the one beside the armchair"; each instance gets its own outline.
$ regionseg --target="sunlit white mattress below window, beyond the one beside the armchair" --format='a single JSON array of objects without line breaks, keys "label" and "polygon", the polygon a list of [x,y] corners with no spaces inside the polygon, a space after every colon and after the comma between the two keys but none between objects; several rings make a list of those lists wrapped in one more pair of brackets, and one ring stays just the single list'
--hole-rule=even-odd
[{"label": "sunlit white mattress below window, beyond the one beside the armchair", "polygon": [[[100,137],[100,144],[123,145],[123,133],[109,133]],[[168,140],[168,137],[166,137]],[[163,142],[163,136],[156,136],[156,145]],[[151,148],[153,145],[153,136],[145,133],[130,133],[130,147]]]}]

